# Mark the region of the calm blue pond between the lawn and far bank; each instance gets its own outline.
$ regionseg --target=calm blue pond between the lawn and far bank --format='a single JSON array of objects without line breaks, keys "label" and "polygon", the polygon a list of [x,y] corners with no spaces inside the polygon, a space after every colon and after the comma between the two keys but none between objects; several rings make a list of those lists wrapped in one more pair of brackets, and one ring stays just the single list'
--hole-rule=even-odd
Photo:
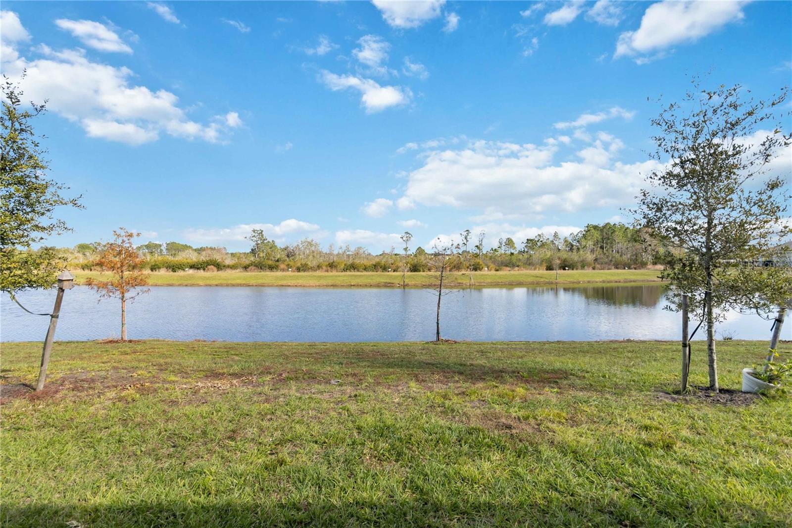
[{"label": "calm blue pond between the lawn and far bank", "polygon": [[[664,291],[661,285],[465,289],[443,298],[441,330],[444,338],[471,341],[680,339],[680,315],[663,309]],[[32,312],[49,312],[55,290],[17,298]],[[85,286],[66,292],[57,340],[120,335],[120,303],[97,298]],[[128,304],[128,338],[422,341],[434,337],[435,309],[436,297],[423,289],[161,286]],[[2,297],[0,340],[42,341],[48,321]],[[770,323],[729,314],[718,326],[718,338],[723,335],[769,339]],[[785,328],[784,339],[789,336]]]}]

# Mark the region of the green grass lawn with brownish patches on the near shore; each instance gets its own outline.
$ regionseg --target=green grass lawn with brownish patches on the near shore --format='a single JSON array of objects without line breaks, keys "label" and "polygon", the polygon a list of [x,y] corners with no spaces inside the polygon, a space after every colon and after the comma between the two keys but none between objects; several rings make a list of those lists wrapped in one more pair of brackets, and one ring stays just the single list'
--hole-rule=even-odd
[{"label": "green grass lawn with brownish patches on the near shore", "polygon": [[[767,345],[718,346],[739,388]],[[672,342],[59,342],[8,398],[39,357],[4,526],[792,524],[789,397],[672,396]]]}]

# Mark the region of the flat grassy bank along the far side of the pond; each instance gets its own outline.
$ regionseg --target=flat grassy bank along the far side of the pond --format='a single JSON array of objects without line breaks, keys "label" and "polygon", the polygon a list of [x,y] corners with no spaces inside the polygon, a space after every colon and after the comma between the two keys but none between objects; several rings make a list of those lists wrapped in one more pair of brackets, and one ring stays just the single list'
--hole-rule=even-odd
[{"label": "flat grassy bank along the far side of the pond", "polygon": [[[100,277],[98,272],[75,271],[78,284],[88,277]],[[561,271],[558,284],[581,282],[649,282],[660,281],[657,270],[583,270]],[[157,272],[150,274],[155,286],[391,286],[402,285],[400,273],[248,273],[234,271]],[[474,285],[540,285],[556,284],[554,271],[489,271],[475,272]],[[433,274],[407,274],[409,287],[420,288],[434,283]],[[450,286],[467,286],[468,274],[451,274]]]}]

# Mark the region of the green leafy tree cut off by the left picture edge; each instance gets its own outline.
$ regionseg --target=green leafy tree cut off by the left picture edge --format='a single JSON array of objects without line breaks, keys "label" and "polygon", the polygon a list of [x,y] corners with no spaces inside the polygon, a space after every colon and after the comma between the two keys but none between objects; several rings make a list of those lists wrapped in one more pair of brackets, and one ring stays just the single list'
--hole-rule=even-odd
[{"label": "green leafy tree cut off by the left picture edge", "polygon": [[48,236],[70,231],[63,220],[54,217],[56,207],[69,205],[82,209],[76,198],[60,192],[67,187],[46,178],[49,170],[33,131],[32,119],[44,112],[44,105],[31,103],[22,109],[22,92],[8,79],[2,84],[2,150],[0,150],[0,291],[49,288],[63,269],[55,250],[33,244]]}]

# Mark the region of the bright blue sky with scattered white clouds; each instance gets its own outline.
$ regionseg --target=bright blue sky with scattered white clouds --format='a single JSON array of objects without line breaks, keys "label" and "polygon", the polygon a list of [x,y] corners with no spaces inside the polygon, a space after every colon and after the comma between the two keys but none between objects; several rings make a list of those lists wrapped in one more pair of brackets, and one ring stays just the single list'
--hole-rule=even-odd
[{"label": "bright blue sky with scattered white clouds", "polygon": [[658,97],[792,75],[790,2],[2,9],[2,71],[48,99],[51,177],[86,205],[59,246],[124,226],[243,250],[260,227],[379,252],[629,220]]}]

